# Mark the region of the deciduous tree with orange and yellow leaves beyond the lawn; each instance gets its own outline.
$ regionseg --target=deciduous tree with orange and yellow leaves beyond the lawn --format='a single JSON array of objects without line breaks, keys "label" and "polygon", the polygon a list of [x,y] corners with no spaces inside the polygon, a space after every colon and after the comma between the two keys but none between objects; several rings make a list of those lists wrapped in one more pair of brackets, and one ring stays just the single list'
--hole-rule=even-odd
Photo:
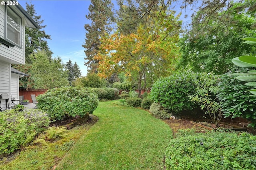
[{"label": "deciduous tree with orange and yellow leaves beyond the lawn", "polygon": [[178,57],[176,43],[179,35],[174,33],[180,28],[178,17],[174,17],[174,12],[168,10],[167,6],[159,6],[155,10],[151,12],[157,18],[148,19],[146,25],[139,24],[135,33],[117,31],[103,37],[101,51],[94,57],[100,61],[99,76],[107,78],[115,72],[126,72],[130,80],[136,80],[139,97],[141,90],[146,87],[147,74],[152,71],[150,66],[161,69],[158,77],[164,76],[174,68],[172,62]]}]

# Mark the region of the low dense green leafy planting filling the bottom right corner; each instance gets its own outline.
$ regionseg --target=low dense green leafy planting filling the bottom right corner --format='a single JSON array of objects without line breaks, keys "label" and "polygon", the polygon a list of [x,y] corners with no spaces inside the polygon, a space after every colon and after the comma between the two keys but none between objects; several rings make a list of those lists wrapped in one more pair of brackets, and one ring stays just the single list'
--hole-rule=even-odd
[{"label": "low dense green leafy planting filling the bottom right corner", "polygon": [[[184,135],[185,134],[185,135]],[[177,134],[166,149],[166,170],[256,169],[256,136],[209,131]]]}]

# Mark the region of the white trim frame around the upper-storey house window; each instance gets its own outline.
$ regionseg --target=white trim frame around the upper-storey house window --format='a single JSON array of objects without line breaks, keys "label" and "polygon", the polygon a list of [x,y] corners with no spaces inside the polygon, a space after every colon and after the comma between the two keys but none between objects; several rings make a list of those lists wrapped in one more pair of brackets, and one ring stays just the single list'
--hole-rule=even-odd
[{"label": "white trim frame around the upper-storey house window", "polygon": [[[8,22],[7,22],[7,11],[8,10],[12,10],[12,12],[15,14],[15,15],[17,15],[18,16],[18,18],[20,18],[20,31],[19,31],[19,33],[20,33],[20,45],[18,45],[17,43],[15,43],[15,42],[13,42],[12,40],[10,40],[10,39],[8,39],[7,38],[7,24],[10,26],[10,27],[12,27]],[[13,27],[12,27],[13,28]],[[15,28],[14,28],[15,29]],[[15,29],[15,30],[17,30],[17,29]],[[16,46],[16,47],[18,47],[18,48],[20,48],[20,49],[22,49],[22,18],[20,17],[20,15],[19,14],[17,14],[17,12],[15,12],[10,6],[5,6],[5,12],[4,12],[4,39],[6,40],[6,41],[8,41],[10,44],[12,44],[13,46]],[[12,46],[10,46],[10,47],[12,47]]]}]

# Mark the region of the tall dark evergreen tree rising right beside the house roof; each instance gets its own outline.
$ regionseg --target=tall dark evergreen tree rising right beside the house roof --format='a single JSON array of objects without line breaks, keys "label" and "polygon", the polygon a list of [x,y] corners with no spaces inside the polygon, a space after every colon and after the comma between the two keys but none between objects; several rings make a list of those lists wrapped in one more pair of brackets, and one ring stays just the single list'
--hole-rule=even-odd
[{"label": "tall dark evergreen tree rising right beside the house roof", "polygon": [[51,36],[46,34],[43,28],[46,25],[42,25],[44,20],[41,20],[41,16],[36,15],[36,11],[33,4],[26,3],[26,11],[28,14],[36,21],[40,26],[40,29],[36,28],[25,28],[25,63],[32,64],[30,60],[30,55],[37,50],[43,50],[46,53],[49,61],[52,59],[52,51],[50,51],[47,45],[47,39],[51,39]]}]

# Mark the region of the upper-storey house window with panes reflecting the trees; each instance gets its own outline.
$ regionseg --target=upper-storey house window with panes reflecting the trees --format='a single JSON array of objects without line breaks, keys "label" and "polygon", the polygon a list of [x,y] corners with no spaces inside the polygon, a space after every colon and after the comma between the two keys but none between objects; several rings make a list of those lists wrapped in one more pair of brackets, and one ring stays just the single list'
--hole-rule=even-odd
[{"label": "upper-storey house window with panes reflecting the trees", "polygon": [[21,18],[11,8],[6,8],[6,39],[21,46]]}]

